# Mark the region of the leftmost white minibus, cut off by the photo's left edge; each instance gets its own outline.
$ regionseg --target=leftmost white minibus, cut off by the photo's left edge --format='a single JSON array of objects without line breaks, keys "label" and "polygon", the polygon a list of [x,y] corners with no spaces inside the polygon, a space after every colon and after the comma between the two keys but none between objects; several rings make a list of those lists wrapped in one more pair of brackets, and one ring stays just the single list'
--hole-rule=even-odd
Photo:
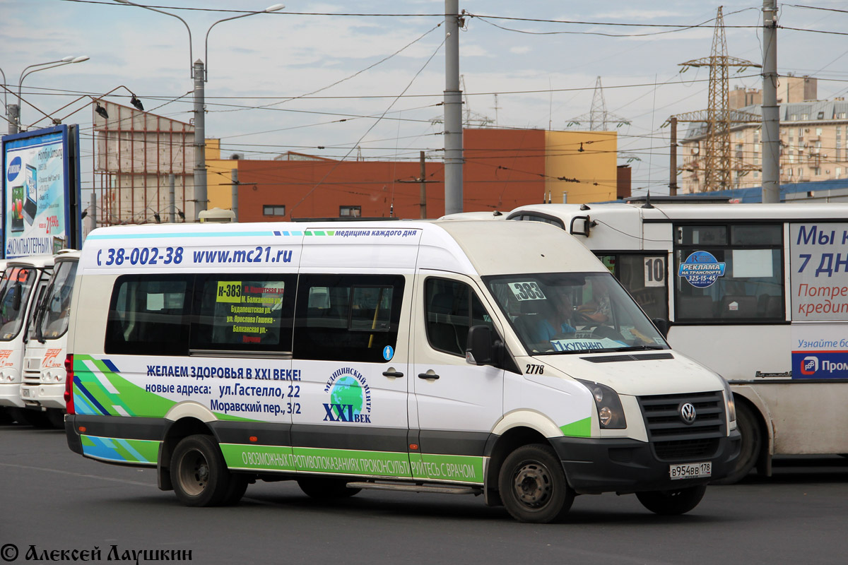
[{"label": "leftmost white minibus, cut off by the photo's left edge", "polygon": [[48,425],[45,414],[25,410],[20,384],[36,304],[52,272],[53,255],[8,259],[0,284],[0,407],[6,407],[20,424]]}]

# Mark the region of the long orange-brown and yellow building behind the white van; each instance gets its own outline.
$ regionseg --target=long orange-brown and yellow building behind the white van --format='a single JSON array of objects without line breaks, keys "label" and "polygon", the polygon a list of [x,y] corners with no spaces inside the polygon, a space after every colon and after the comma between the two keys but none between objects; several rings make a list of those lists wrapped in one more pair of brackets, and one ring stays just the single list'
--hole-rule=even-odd
[{"label": "long orange-brown and yellow building behind the white van", "polygon": [[[615,132],[464,130],[463,210],[598,202],[616,197]],[[337,161],[297,153],[273,161],[220,159],[207,141],[209,208],[232,207],[238,175],[241,222],[361,216],[421,218],[421,164]],[[427,161],[426,217],[444,214],[444,165]],[[576,195],[575,198],[568,197]]]}]

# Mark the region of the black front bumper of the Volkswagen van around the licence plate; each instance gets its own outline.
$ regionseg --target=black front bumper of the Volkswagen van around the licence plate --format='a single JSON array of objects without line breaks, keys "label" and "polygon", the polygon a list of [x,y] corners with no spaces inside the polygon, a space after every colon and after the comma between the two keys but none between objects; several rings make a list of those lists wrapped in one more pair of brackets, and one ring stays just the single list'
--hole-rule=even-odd
[{"label": "black front bumper of the Volkswagen van around the licence plate", "polygon": [[[582,494],[639,492],[679,489],[722,479],[734,470],[739,457],[739,431],[718,440],[711,457],[686,460],[660,460],[650,443],[624,439],[583,439],[561,437],[550,440],[565,468],[568,484]],[[710,477],[674,479],[669,466],[678,463],[710,461]]]}]

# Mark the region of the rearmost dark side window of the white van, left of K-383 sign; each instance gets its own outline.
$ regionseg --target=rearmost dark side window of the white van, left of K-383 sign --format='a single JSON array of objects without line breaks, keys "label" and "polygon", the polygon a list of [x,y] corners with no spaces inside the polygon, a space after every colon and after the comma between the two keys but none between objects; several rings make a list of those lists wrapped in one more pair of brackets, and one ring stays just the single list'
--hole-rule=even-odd
[{"label": "rearmost dark side window of the white van, left of K-383 sign", "polygon": [[187,355],[191,279],[126,275],[115,281],[106,323],[107,353]]}]

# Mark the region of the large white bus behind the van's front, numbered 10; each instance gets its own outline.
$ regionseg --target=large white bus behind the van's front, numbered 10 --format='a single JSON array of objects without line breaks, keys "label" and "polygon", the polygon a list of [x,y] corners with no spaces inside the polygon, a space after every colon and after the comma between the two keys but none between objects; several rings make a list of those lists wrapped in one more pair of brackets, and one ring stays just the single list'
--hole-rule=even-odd
[{"label": "large white bus behind the van's front, numbered 10", "polygon": [[676,351],[734,391],[742,453],[848,453],[848,205],[539,204],[615,274]]}]

